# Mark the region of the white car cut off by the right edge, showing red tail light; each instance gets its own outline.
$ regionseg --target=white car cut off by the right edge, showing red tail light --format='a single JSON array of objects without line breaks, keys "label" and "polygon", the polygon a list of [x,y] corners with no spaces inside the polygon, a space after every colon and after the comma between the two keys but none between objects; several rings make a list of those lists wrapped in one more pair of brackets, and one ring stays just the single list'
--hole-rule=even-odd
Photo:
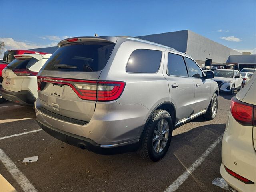
[{"label": "white car cut off by the right edge, showing red tail light", "polygon": [[256,73],[230,103],[220,173],[237,191],[256,191]]}]

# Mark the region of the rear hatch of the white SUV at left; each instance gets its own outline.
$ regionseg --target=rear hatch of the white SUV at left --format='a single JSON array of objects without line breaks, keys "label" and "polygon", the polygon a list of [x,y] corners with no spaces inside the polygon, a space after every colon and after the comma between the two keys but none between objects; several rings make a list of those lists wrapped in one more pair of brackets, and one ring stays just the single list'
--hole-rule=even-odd
[{"label": "rear hatch of the white SUV at left", "polygon": [[28,76],[36,76],[38,72],[31,71],[31,68],[38,60],[42,58],[41,55],[15,55],[14,59],[8,66],[2,70],[3,82],[2,86],[6,90],[20,91],[22,90],[22,83],[24,78]]}]

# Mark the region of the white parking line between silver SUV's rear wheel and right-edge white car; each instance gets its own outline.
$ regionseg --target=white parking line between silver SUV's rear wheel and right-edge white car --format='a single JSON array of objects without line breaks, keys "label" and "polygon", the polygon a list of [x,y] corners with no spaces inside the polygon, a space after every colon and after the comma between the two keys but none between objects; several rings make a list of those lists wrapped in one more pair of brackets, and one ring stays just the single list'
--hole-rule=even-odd
[{"label": "white parking line between silver SUV's rear wheel and right-edge white car", "polygon": [[181,175],[179,176],[164,192],[174,192],[188,179],[194,170],[205,160],[205,158],[214,150],[214,148],[221,142],[223,134],[220,135],[208,149]]}]

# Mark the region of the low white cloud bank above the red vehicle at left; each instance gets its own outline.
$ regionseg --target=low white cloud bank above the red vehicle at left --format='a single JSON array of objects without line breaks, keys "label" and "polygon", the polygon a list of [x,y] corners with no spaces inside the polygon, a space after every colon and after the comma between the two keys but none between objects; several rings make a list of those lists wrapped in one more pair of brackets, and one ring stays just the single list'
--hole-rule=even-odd
[{"label": "low white cloud bank above the red vehicle at left", "polygon": [[42,47],[52,47],[57,46],[56,42],[52,42],[50,44],[38,44],[34,42],[23,42],[23,41],[17,41],[13,38],[0,38],[0,42],[4,42],[5,47],[0,55],[0,58],[3,57],[3,54],[6,50],[10,49],[35,49],[35,48],[42,48]]}]

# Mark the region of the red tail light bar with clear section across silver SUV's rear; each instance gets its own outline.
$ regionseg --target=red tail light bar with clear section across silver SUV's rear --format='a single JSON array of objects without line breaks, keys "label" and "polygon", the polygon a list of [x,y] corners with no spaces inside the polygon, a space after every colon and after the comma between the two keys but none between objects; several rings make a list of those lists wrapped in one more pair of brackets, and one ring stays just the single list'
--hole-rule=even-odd
[{"label": "red tail light bar with clear section across silver SUV's rear", "polygon": [[119,81],[86,81],[37,76],[38,90],[42,82],[66,84],[84,100],[112,101],[118,99],[124,91],[125,82]]}]

